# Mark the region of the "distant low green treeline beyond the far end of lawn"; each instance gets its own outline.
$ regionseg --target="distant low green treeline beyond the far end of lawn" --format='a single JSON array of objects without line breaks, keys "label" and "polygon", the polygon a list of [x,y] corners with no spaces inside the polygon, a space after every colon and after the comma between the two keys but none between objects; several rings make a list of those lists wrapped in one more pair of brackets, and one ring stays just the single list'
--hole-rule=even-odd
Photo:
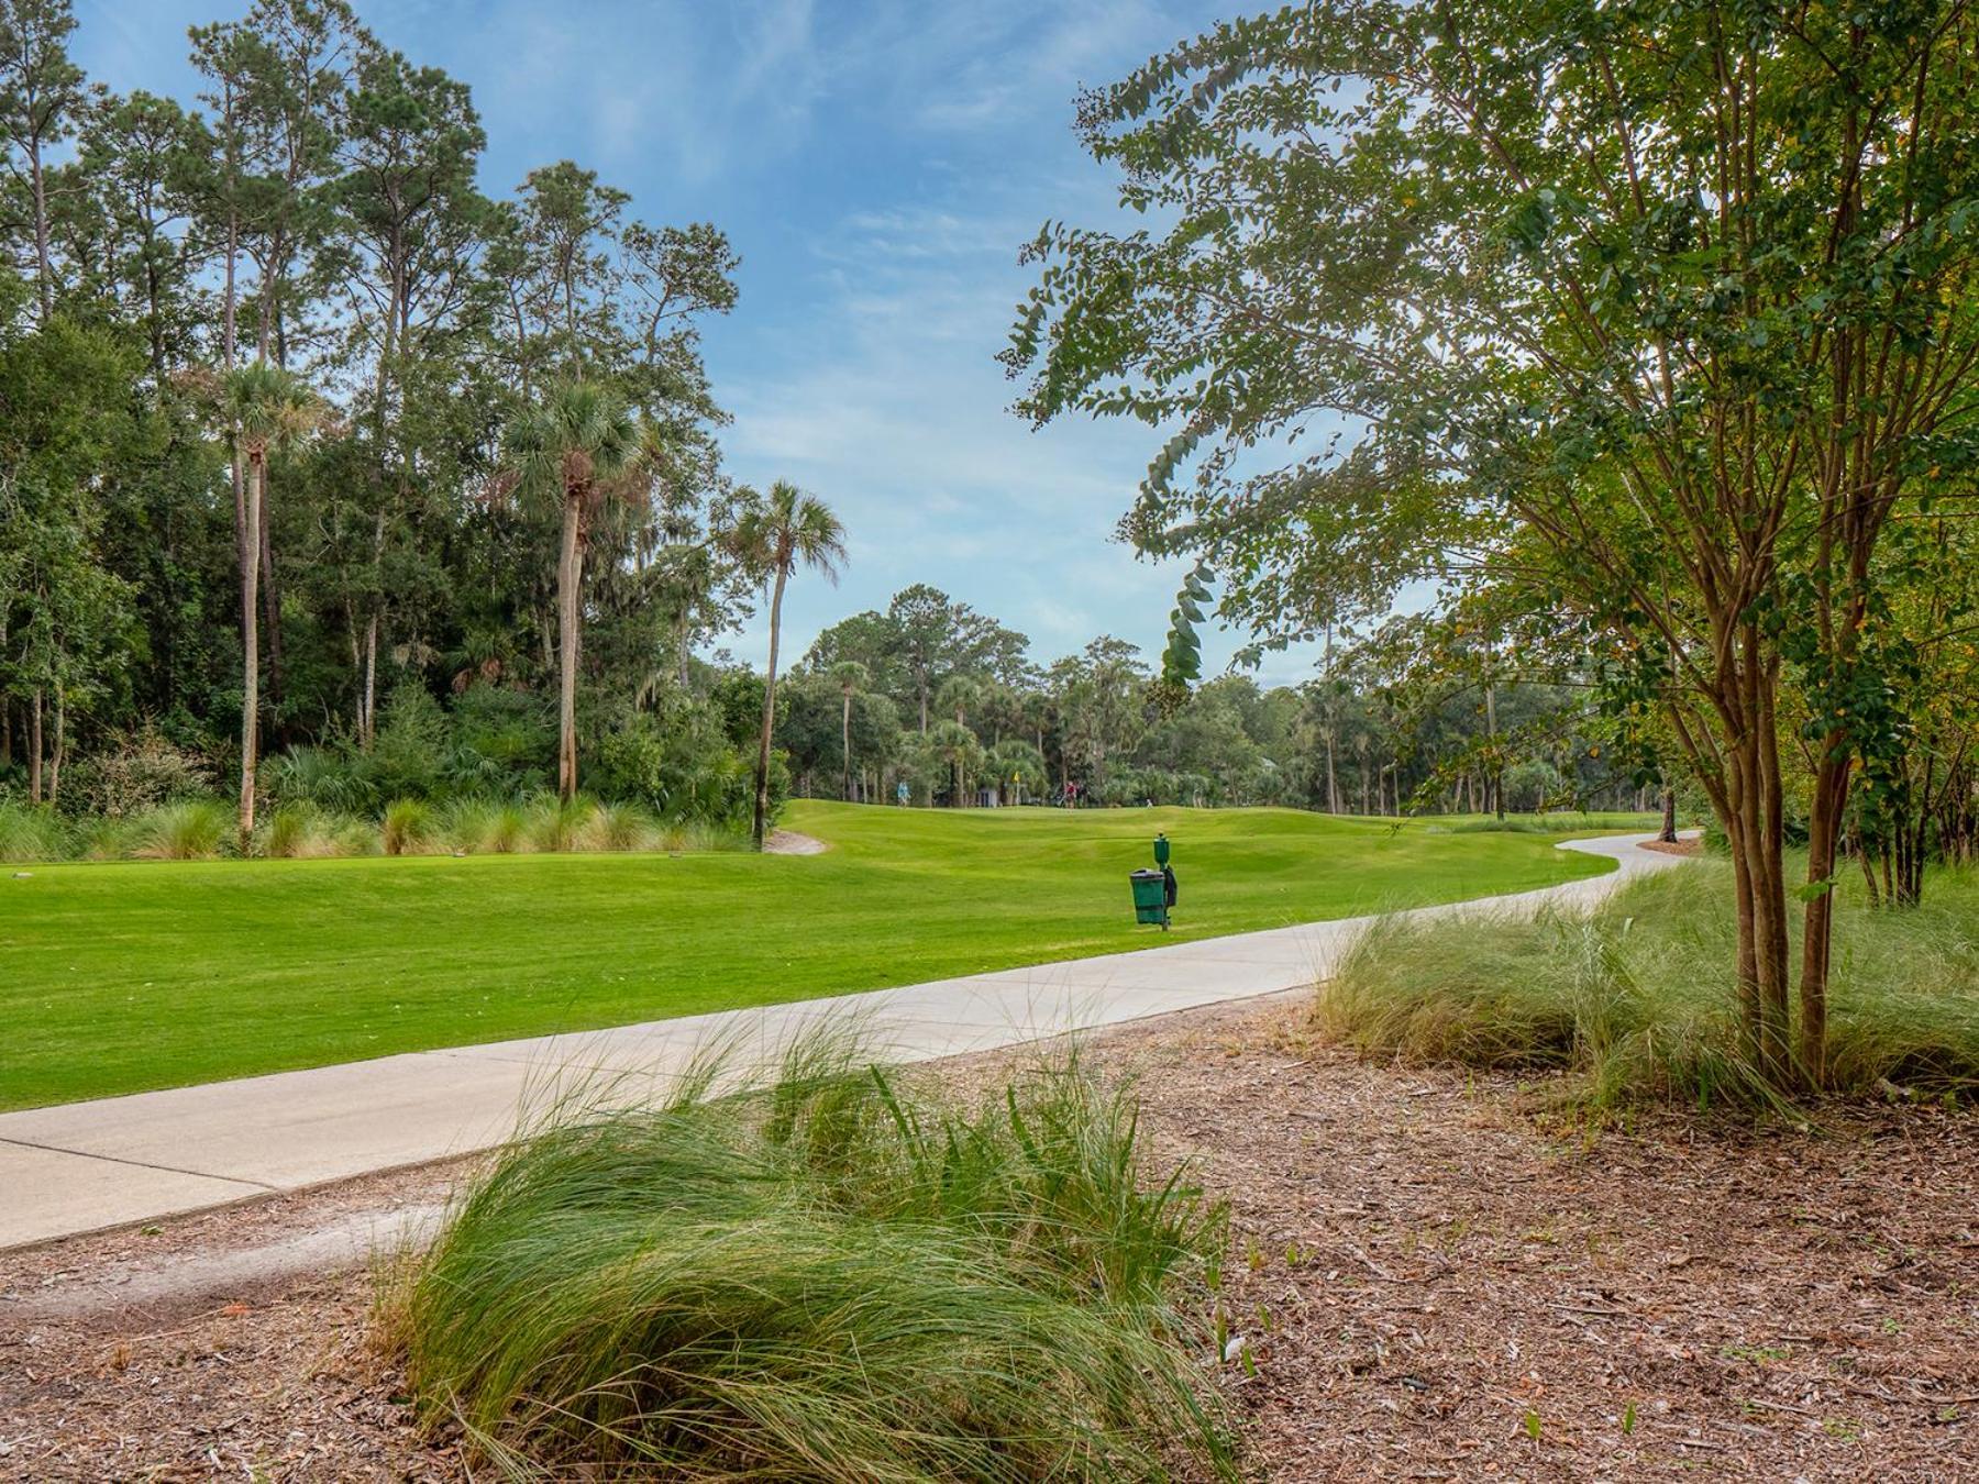
[{"label": "distant low green treeline beyond the far end of lawn", "polygon": [[851,799],[1654,805],[1660,780],[1617,766],[1581,687],[1425,663],[1417,627],[1330,653],[1302,687],[1225,675],[1178,704],[1122,639],[1041,667],[1021,633],[916,584],[817,637],[778,693],[778,742],[800,791]]}]

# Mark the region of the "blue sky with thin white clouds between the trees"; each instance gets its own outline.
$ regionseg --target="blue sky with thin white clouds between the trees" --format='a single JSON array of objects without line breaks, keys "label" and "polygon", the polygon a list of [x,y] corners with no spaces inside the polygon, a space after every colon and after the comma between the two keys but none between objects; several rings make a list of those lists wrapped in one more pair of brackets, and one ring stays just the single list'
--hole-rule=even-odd
[{"label": "blue sky with thin white clouds between the trees", "polygon": [[[1112,81],[1235,0],[358,0],[366,24],[473,87],[483,188],[574,158],[649,222],[710,220],[742,253],[708,326],[734,414],[730,473],[827,499],[851,532],[839,588],[800,582],[786,653],[932,582],[1051,661],[1096,633],[1154,657],[1178,564],[1112,540],[1156,439],[1031,431],[993,356],[1047,218],[1106,222],[1112,178],[1073,137]],[[186,26],[241,0],[77,0],[77,61],[119,91],[190,101]],[[1221,667],[1237,635],[1205,635]],[[760,661],[756,625],[730,643]],[[1263,679],[1310,673],[1267,659]]]}]

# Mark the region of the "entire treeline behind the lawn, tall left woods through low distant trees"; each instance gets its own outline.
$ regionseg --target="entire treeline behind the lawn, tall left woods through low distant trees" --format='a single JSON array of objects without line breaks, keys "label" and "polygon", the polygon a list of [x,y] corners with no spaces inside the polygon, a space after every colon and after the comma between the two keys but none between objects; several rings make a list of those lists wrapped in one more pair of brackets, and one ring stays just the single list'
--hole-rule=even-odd
[{"label": "entire treeline behind the lawn, tall left woods through low distant trees", "polygon": [[[467,85],[342,0],[196,28],[190,99],[89,83],[71,30],[65,0],[0,4],[0,799],[133,819],[236,793],[239,849],[313,851],[598,835],[501,813],[552,789],[568,813],[580,786],[736,833],[792,782],[1366,813],[1647,797],[1571,691],[1425,687],[1369,647],[1178,708],[1132,645],[1041,665],[924,586],[821,635],[764,726],[764,677],[720,639],[829,574],[839,536],[800,491],[722,473],[697,342],[736,303],[720,230],[647,222],[570,160],[485,194]],[[212,813],[141,835],[198,847]]]}]

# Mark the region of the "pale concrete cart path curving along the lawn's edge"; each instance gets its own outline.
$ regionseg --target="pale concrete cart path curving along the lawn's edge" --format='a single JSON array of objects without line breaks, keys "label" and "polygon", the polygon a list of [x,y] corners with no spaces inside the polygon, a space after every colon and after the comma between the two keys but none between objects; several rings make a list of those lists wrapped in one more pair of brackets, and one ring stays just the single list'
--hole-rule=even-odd
[{"label": "pale concrete cart path curving along the lawn's edge", "polygon": [[[1647,839],[1567,841],[1617,871],[1407,916],[1591,902],[1625,875],[1674,863],[1639,849]],[[875,1055],[926,1061],[1296,989],[1324,979],[1371,920],[0,1114],[0,1249],[485,1150],[558,1086],[661,1080],[710,1041],[748,1063],[807,1025],[851,1017]]]}]

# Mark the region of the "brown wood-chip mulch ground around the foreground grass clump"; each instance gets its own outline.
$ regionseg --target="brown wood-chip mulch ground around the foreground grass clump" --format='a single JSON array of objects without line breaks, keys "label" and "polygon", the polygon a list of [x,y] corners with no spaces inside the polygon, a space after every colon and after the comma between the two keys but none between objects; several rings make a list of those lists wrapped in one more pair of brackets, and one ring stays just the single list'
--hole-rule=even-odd
[{"label": "brown wood-chip mulch ground around the foreground grass clump", "polygon": [[[1300,1011],[1096,1043],[1233,1203],[1259,1474],[1979,1478],[1973,1118],[1589,1130],[1544,1086],[1310,1049]],[[0,1478],[467,1478],[410,1425],[372,1274],[309,1249],[455,1173],[0,1254]]]}]

